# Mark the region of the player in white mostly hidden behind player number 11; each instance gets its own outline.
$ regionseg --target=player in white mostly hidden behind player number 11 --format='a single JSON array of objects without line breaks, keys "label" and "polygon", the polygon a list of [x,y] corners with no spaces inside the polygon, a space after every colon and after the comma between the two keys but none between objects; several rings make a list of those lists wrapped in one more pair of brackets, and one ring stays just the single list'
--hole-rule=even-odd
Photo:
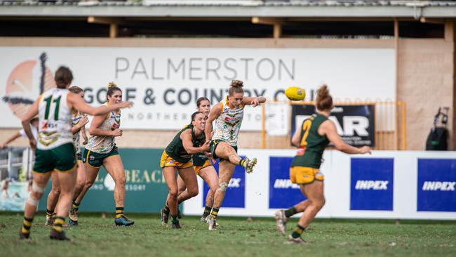
[{"label": "player in white mostly hidden behind player number 11", "polygon": [[[72,86],[68,88],[68,90],[72,93],[79,95],[82,99],[84,98],[83,89],[79,86]],[[85,126],[88,123],[87,115],[84,115],[81,112],[73,110],[72,112],[72,133],[73,133],[73,143],[74,148],[76,149],[76,159],[78,162],[78,171],[77,171],[77,179],[76,179],[76,186],[74,187],[74,197],[72,207],[69,211],[69,225],[78,225],[78,206],[79,203],[75,202],[76,198],[79,196],[79,193],[83,189],[84,185],[86,184],[86,170],[84,169],[84,165],[82,163],[81,157],[81,148],[79,147],[80,135],[83,138],[83,145],[87,144],[87,136],[86,136],[86,129]],[[48,195],[48,202],[47,202],[47,210],[46,210],[46,222],[44,225],[50,226],[53,225],[53,214],[55,205],[57,205],[58,197],[60,195],[60,187],[58,185],[58,180],[54,177],[56,173],[51,175],[52,179],[52,188],[51,192]]]}]

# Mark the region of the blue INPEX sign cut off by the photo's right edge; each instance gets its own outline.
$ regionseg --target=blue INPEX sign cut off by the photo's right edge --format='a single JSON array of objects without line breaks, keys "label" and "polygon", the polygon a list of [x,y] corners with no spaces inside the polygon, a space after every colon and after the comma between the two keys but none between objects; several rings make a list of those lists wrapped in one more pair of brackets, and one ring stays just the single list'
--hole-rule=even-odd
[{"label": "blue INPEX sign cut off by the photo's right edge", "polygon": [[456,211],[456,159],[418,159],[417,211]]}]

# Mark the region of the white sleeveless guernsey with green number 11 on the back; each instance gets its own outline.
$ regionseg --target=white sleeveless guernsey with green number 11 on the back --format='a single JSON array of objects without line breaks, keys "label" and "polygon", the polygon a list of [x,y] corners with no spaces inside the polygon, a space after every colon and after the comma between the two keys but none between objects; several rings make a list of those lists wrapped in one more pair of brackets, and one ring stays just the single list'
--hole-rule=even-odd
[{"label": "white sleeveless guernsey with green number 11 on the back", "polygon": [[73,142],[72,112],[67,104],[67,89],[55,88],[40,96],[38,105],[39,150],[50,150]]}]

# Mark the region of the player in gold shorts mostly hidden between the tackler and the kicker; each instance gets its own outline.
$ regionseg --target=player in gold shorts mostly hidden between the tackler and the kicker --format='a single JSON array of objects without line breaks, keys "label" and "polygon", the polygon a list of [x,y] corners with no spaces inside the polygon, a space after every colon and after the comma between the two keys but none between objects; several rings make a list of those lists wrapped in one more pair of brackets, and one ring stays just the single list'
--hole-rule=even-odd
[{"label": "player in gold shorts mostly hidden between the tackler and the kicker", "polygon": [[[196,100],[196,108],[199,112],[203,112],[206,115],[206,118],[210,112],[210,101],[208,98],[201,97]],[[204,138],[206,140],[206,137]],[[194,140],[194,147],[199,147],[203,145],[204,141],[200,142],[199,140]],[[218,187],[218,176],[217,171],[213,166],[213,159],[210,157],[210,152],[199,152],[197,154],[193,154],[193,167],[195,169],[196,175],[204,180],[209,186],[208,195],[206,196],[206,206],[203,211],[203,216],[201,216],[201,222],[206,223],[206,218],[209,216],[210,211],[212,211],[212,206],[214,204],[214,194]],[[212,159],[212,160],[211,160]],[[177,178],[177,189],[178,195],[181,195],[182,192],[187,190],[187,185],[185,185],[184,180],[182,178]],[[185,201],[181,197],[177,197],[177,202],[179,204]],[[168,216],[169,216],[169,208],[168,206],[163,207],[161,210],[162,215],[162,222],[168,223]],[[180,213],[177,212],[177,217],[182,218]]]}]

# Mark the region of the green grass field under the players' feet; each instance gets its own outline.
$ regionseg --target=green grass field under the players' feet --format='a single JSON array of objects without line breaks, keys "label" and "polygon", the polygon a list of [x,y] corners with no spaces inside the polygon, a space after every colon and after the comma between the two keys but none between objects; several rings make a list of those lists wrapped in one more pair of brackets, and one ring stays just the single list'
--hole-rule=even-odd
[{"label": "green grass field under the players' feet", "polygon": [[272,218],[220,217],[208,231],[199,217],[171,230],[156,215],[130,215],[135,225],[119,228],[113,218],[82,213],[79,227],[65,228],[72,241],[54,242],[44,216],[35,217],[27,242],[18,239],[22,213],[1,213],[0,256],[456,256],[455,221],[318,219],[304,232],[308,244],[290,245]]}]

